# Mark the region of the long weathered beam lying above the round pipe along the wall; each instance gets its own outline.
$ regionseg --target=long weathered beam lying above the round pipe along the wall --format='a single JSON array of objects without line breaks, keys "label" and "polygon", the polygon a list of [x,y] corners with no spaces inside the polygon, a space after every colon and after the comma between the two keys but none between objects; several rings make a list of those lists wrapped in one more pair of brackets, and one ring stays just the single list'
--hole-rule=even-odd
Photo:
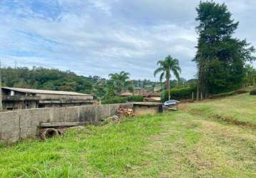
[{"label": "long weathered beam lying above the round pipe along the wall", "polygon": [[40,127],[72,127],[78,125],[102,125],[102,122],[48,122],[40,123]]}]

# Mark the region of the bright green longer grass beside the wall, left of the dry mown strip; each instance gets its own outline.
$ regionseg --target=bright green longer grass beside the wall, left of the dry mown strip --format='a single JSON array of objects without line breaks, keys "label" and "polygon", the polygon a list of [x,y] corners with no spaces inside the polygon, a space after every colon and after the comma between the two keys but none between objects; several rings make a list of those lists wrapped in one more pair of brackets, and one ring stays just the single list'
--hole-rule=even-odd
[{"label": "bright green longer grass beside the wall, left of the dry mown strip", "polygon": [[0,148],[0,177],[120,176],[144,164],[150,135],[159,133],[167,115],[127,119],[121,124],[71,130],[46,142],[26,140]]}]

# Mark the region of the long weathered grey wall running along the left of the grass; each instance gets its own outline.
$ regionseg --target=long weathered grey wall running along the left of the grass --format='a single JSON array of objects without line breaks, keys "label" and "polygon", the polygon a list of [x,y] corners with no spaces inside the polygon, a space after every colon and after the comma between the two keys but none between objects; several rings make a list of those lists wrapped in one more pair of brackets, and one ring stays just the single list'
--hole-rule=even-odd
[{"label": "long weathered grey wall running along the left of the grass", "polygon": [[16,142],[36,137],[41,122],[100,121],[117,115],[117,109],[132,108],[132,103],[114,105],[84,105],[70,108],[41,108],[0,113],[0,140]]}]

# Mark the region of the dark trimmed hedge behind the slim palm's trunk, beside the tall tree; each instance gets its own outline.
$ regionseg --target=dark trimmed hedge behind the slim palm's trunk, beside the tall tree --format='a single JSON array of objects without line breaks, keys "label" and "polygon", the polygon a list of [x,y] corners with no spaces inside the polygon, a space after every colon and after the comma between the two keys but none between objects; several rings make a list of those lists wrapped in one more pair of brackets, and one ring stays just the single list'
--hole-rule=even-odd
[{"label": "dark trimmed hedge behind the slim palm's trunk, beside the tall tree", "polygon": [[[172,88],[170,90],[172,100],[186,100],[192,98],[192,92],[195,93],[196,88]],[[195,93],[196,94],[196,93]],[[196,95],[195,95],[196,96]],[[161,100],[165,102],[168,100],[168,90],[161,93]]]}]

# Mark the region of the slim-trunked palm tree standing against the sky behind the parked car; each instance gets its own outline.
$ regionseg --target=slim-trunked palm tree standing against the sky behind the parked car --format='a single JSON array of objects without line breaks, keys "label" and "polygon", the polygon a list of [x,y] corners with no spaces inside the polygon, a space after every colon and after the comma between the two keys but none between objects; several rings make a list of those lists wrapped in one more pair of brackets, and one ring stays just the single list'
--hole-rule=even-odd
[{"label": "slim-trunked palm tree standing against the sky behind the parked car", "polygon": [[176,58],[167,56],[163,61],[158,61],[157,65],[159,65],[159,68],[154,71],[154,76],[156,76],[158,73],[161,73],[159,78],[160,82],[162,82],[162,79],[165,76],[168,90],[168,99],[170,100],[171,95],[169,91],[169,79],[171,78],[171,73],[173,73],[177,80],[179,80],[179,73],[182,71],[181,68],[179,68],[179,61]]}]

